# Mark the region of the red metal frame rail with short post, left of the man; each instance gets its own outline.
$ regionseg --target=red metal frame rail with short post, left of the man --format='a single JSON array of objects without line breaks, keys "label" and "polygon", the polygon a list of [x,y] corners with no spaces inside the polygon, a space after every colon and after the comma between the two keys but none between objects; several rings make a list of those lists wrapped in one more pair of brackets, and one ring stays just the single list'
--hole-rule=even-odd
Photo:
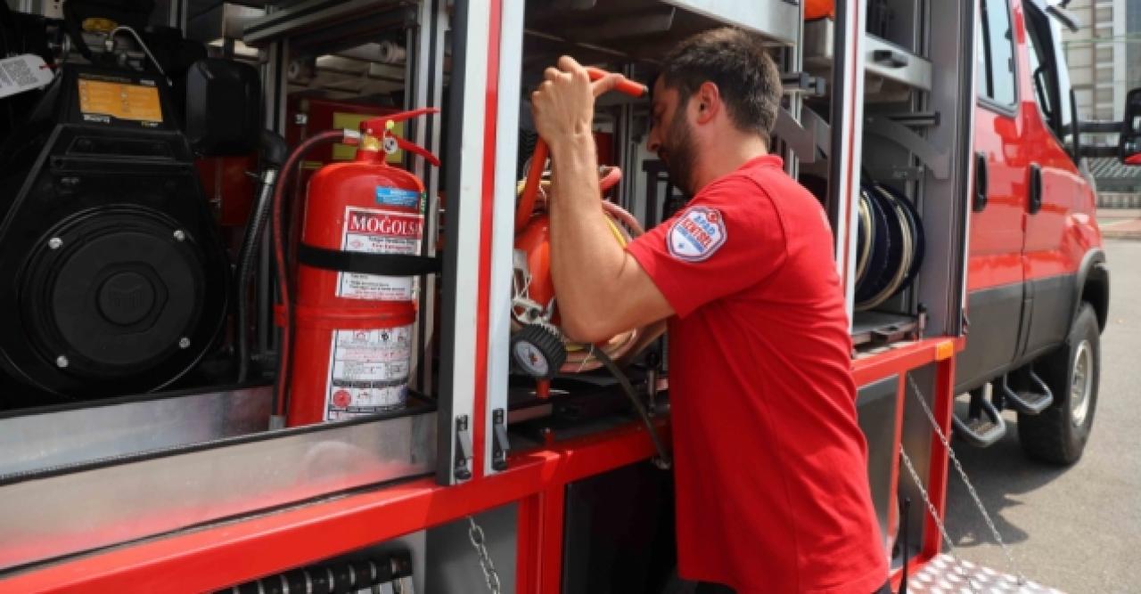
[{"label": "red metal frame rail with short post, left of the man", "polygon": [[653,453],[646,431],[631,424],[512,457],[510,470],[463,485],[419,479],[164,536],[13,576],[0,592],[212,591],[515,502],[520,520],[527,516],[519,543],[542,552],[520,546],[528,551],[519,558],[520,584],[540,587],[519,592],[557,592],[564,487]]}]

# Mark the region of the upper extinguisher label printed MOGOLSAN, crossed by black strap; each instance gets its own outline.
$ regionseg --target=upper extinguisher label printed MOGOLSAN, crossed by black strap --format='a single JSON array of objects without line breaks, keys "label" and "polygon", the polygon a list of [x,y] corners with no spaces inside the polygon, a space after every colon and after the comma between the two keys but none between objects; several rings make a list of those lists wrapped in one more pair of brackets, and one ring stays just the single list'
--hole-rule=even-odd
[{"label": "upper extinguisher label printed MOGOLSAN, crossed by black strap", "polygon": [[[345,210],[345,233],[341,250],[373,254],[416,255],[423,236],[421,214],[389,209]],[[411,301],[415,299],[415,278],[411,276],[337,274],[337,296],[374,301]]]}]

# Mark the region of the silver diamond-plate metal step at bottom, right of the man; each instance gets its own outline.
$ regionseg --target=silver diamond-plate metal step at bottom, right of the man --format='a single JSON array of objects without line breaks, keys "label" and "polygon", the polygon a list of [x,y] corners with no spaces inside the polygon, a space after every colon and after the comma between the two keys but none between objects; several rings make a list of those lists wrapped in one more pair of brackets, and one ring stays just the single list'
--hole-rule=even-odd
[{"label": "silver diamond-plate metal step at bottom, right of the man", "polygon": [[[968,583],[974,583],[974,588]],[[1018,578],[1002,573],[970,561],[957,563],[950,555],[944,554],[923,565],[921,571],[912,573],[907,579],[907,594],[1065,594],[1060,589],[1027,581],[1019,585]]]}]

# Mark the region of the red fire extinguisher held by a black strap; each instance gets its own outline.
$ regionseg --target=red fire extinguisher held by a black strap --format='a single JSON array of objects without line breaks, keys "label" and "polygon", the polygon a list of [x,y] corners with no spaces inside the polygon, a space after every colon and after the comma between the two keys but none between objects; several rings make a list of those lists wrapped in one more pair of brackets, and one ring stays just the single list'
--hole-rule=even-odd
[{"label": "red fire extinguisher held by a black strap", "polygon": [[[309,180],[304,214],[296,205],[300,244],[286,250],[284,241],[277,242],[278,269],[290,271],[281,284],[277,316],[283,325],[278,409],[286,409],[289,426],[405,405],[416,275],[432,271],[432,261],[419,257],[423,182],[388,165],[386,157],[405,149],[439,166],[435,155],[393,133],[396,122],[438,112],[423,108],[363,122],[356,158],[321,168]],[[341,140],[354,136],[335,135]],[[275,220],[275,230],[281,227]]]}]

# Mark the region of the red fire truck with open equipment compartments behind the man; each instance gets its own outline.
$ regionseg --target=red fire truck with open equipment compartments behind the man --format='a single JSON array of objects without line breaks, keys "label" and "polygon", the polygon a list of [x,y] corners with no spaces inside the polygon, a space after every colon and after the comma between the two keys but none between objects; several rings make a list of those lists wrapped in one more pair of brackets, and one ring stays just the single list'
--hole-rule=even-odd
[{"label": "red fire truck with open equipment compartments behind the man", "polygon": [[[1097,406],[1109,272],[1081,158],[1108,149],[1082,143],[1063,9],[9,0],[0,591],[677,587],[673,478],[650,463],[667,342],[525,334],[552,304],[516,214],[528,171],[551,190],[528,165],[544,67],[649,83],[725,25],[771,48],[772,149],[834,231],[893,586],[969,579],[952,436],[985,447],[1014,410],[1028,455],[1071,464]],[[648,116],[598,104],[616,237],[685,202]],[[1114,128],[1136,160],[1141,92]],[[258,162],[256,195],[203,189],[220,158]]]}]

